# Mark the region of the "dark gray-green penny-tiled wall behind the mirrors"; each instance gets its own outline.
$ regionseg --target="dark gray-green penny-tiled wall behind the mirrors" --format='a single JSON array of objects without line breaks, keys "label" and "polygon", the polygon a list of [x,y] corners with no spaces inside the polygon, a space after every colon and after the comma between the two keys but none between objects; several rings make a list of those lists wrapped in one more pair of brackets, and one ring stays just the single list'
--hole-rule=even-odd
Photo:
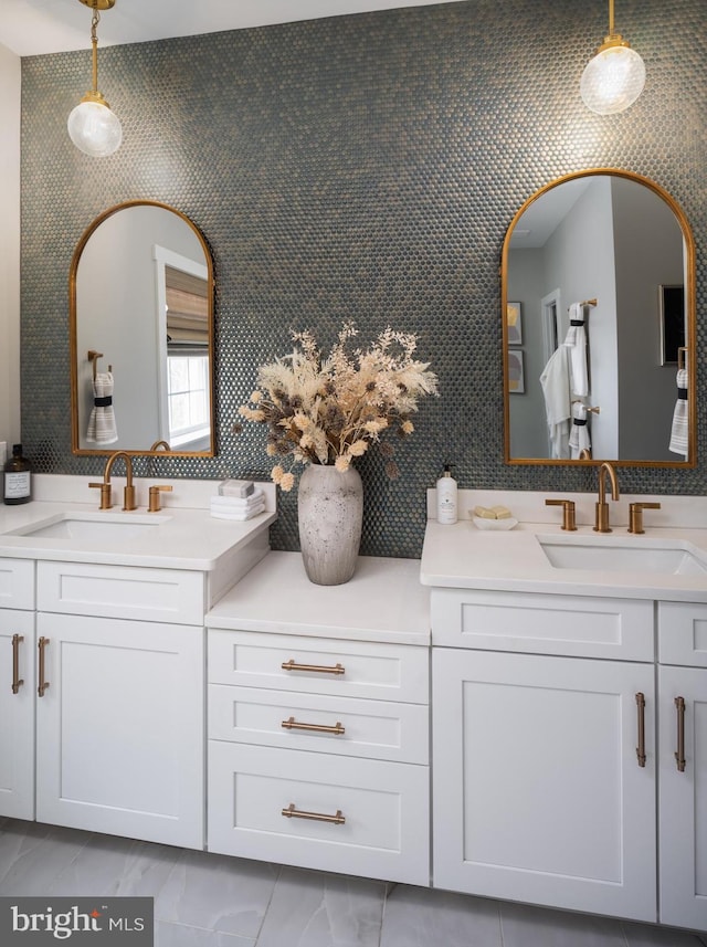
[{"label": "dark gray-green penny-tiled wall behind the mirrors", "polygon": [[[267,476],[263,430],[230,433],[256,366],[289,350],[291,327],[328,346],[354,318],[363,340],[388,324],[418,333],[441,388],[399,451],[398,481],[373,456],[360,464],[365,554],[419,555],[424,492],[445,460],[469,488],[593,488],[587,471],[503,462],[500,248],[516,209],[561,175],[613,166],[662,185],[697,242],[707,403],[706,21],[704,0],[622,0],[616,25],[648,81],[612,117],[579,97],[604,0],[469,0],[106,48],[99,85],[124,144],[99,160],[65,131],[88,42],[23,60],[27,452],[44,472],[102,467],[71,453],[68,266],[95,215],[150,198],[202,230],[218,282],[218,456],[155,461],[158,475]],[[706,418],[697,470],[624,470],[624,490],[704,493]],[[295,496],[282,499],[273,543],[296,549]]]}]

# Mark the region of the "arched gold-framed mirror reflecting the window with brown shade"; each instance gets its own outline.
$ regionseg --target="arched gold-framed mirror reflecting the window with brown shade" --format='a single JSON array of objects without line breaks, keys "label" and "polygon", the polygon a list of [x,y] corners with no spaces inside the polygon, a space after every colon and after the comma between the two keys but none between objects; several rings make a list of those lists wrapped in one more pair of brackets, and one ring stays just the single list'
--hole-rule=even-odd
[{"label": "arched gold-framed mirror reflecting the window with brown shade", "polygon": [[74,453],[213,456],[213,263],[194,224],[156,201],[110,208],[68,295]]}]

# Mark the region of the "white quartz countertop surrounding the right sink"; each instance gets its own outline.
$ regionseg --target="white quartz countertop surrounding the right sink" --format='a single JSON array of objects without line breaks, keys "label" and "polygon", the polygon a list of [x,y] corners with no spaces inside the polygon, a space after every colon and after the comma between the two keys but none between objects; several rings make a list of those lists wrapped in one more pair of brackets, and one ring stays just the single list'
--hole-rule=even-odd
[{"label": "white quartz countertop surrounding the right sink", "polygon": [[572,596],[609,596],[707,601],[707,572],[668,575],[618,569],[556,568],[540,545],[540,538],[558,543],[627,546],[651,544],[678,546],[707,564],[707,529],[648,527],[643,535],[627,533],[625,526],[611,534],[597,534],[589,525],[574,533],[550,523],[519,523],[508,532],[476,528],[473,520],[460,519],[452,526],[429,520],[420,564],[425,586],[461,589],[494,589],[550,592]]}]

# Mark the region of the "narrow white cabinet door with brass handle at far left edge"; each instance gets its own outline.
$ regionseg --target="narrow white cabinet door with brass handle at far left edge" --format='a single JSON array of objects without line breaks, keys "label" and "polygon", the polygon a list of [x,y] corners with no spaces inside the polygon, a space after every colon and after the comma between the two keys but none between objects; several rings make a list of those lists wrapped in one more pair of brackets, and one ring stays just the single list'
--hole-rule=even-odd
[{"label": "narrow white cabinet door with brass handle at far left edge", "polygon": [[34,612],[0,609],[0,816],[34,818]]}]

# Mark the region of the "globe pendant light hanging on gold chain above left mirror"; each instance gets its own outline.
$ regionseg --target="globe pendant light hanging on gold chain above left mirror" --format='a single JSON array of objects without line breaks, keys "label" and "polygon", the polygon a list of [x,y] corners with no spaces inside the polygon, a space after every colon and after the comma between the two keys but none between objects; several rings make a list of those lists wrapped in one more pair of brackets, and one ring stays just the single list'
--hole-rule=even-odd
[{"label": "globe pendant light hanging on gold chain above left mirror", "polygon": [[109,10],[115,0],[78,0],[91,7],[91,42],[93,44],[93,86],[68,116],[68,137],[85,155],[104,158],[120,147],[123,128],[120,120],[98,92],[98,36],[96,29],[101,20],[99,10]]}]

